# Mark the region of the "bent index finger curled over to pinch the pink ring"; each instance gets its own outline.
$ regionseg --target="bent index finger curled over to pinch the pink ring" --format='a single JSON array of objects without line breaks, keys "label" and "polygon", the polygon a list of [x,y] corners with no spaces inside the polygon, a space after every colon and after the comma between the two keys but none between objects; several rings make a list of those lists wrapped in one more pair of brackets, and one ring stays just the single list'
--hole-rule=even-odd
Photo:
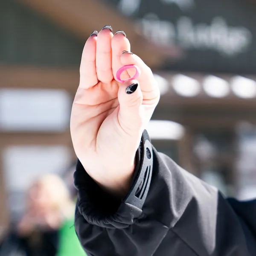
[{"label": "bent index finger curled over to pinch the pink ring", "polygon": [[[138,81],[140,82],[140,88],[143,93],[152,92],[154,90],[157,92],[159,90],[157,83],[154,80],[151,69],[143,62],[143,60],[139,56],[132,53],[124,52],[121,54],[120,61],[122,66],[136,65],[140,68],[141,74],[138,78]],[[127,72],[131,76],[134,75],[133,69],[127,70]]]}]

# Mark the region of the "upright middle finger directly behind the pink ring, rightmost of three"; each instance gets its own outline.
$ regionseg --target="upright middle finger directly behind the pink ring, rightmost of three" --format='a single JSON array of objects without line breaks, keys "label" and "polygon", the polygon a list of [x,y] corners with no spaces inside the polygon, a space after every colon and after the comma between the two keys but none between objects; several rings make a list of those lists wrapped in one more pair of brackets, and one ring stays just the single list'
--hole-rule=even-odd
[{"label": "upright middle finger directly behind the pink ring, rightmost of three", "polygon": [[[113,76],[114,79],[116,79],[116,72],[119,70],[120,67],[122,67],[122,63],[120,60],[120,56],[122,55],[123,51],[130,52],[131,45],[129,40],[126,38],[125,32],[119,30],[115,33],[115,35],[112,38],[111,41],[111,47],[112,47],[112,70],[113,70]],[[127,71],[124,71],[122,73],[122,79],[128,79],[130,78]]]}]

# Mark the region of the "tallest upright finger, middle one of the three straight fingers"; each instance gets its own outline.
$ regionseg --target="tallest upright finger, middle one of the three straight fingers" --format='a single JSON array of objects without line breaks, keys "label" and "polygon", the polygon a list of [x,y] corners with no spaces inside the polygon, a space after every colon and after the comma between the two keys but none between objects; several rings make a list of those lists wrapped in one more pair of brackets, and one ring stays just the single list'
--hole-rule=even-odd
[{"label": "tallest upright finger, middle one of the three straight fingers", "polygon": [[111,26],[107,25],[99,32],[96,44],[96,72],[99,81],[109,83],[113,80],[111,38],[113,37]]}]

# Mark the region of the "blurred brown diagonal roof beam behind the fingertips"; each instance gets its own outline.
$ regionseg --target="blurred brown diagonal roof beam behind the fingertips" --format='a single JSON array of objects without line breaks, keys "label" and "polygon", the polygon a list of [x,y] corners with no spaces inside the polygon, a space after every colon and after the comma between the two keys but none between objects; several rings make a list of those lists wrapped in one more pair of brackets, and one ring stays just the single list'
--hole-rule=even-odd
[{"label": "blurred brown diagonal roof beam behind the fingertips", "polygon": [[177,57],[177,47],[157,47],[137,32],[134,22],[99,0],[16,0],[32,8],[76,37],[86,41],[93,30],[109,24],[113,29],[122,29],[127,34],[132,51],[152,68],[160,67],[166,58]]}]

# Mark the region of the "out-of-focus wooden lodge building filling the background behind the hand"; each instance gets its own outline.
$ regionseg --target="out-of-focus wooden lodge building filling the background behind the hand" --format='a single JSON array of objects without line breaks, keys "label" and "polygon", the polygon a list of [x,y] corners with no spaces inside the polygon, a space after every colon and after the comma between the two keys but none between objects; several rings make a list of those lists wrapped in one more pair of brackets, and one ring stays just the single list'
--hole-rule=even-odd
[{"label": "out-of-focus wooden lodge building filling the background behind the hand", "polygon": [[84,42],[109,24],[154,72],[158,151],[239,199],[256,196],[256,1],[0,0],[0,234],[46,173],[70,193],[69,118]]}]

